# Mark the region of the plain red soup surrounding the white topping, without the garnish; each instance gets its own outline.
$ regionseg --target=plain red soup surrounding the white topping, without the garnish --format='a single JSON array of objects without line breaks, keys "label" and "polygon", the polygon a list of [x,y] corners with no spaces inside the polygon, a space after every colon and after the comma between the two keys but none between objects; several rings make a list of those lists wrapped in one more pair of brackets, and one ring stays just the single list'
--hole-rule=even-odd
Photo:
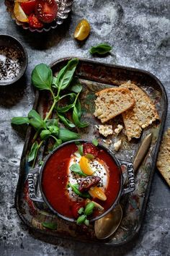
[{"label": "plain red soup surrounding the white topping, without the garnish", "polygon": [[[84,142],[81,144],[84,144]],[[78,148],[74,142],[63,145],[61,148],[58,148],[58,150],[55,150],[45,162],[45,165],[42,168],[40,180],[42,195],[45,197],[48,205],[50,205],[50,208],[61,216],[72,219],[74,218],[73,205],[75,205],[76,202],[72,201],[71,198],[68,197],[67,170],[71,155],[73,155],[77,150]],[[97,158],[104,161],[107,165],[107,170],[109,170],[109,182],[105,191],[105,195],[107,196],[106,201],[102,201],[97,198],[91,199],[98,202],[104,208],[102,213],[100,213],[99,210],[94,210],[94,213],[90,216],[91,218],[96,218],[107,211],[113,205],[115,200],[117,200],[122,187],[122,174],[120,167],[117,166],[114,158],[107,153],[107,150],[104,150],[100,146],[97,146],[97,150]],[[83,202],[84,201],[85,199]]]}]

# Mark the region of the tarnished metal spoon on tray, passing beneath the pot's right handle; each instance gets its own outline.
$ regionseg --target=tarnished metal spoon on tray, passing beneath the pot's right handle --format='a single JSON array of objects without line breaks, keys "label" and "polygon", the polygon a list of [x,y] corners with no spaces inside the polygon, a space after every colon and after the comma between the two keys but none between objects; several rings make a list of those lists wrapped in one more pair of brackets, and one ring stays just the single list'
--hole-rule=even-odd
[{"label": "tarnished metal spoon on tray, passing beneath the pot's right handle", "polygon": [[[133,162],[134,173],[137,171],[140,163],[145,158],[148,148],[151,146],[152,134],[146,136],[146,138],[141,143],[138,153],[135,155],[135,160]],[[120,226],[120,222],[122,221],[122,208],[121,205],[118,204],[111,212],[109,212],[106,216],[99,218],[99,220],[94,223],[94,231],[98,239],[106,239],[112,234]]]}]

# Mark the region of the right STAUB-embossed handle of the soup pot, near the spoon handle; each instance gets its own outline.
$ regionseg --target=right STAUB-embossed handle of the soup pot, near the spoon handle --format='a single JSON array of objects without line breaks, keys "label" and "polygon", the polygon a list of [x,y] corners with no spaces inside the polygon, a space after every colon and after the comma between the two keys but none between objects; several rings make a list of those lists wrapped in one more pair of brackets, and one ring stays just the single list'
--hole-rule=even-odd
[{"label": "right STAUB-embossed handle of the soup pot, near the spoon handle", "polygon": [[128,173],[128,187],[122,189],[122,195],[128,194],[135,190],[135,178],[134,178],[134,170],[133,170],[133,163],[128,161],[120,160],[120,167],[126,166],[127,173]]}]

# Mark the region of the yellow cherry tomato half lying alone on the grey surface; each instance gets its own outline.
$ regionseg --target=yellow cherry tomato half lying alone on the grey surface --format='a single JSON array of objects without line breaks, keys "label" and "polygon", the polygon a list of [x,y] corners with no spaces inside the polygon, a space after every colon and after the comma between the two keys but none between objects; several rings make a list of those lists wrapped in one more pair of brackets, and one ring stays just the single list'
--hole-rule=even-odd
[{"label": "yellow cherry tomato half lying alone on the grey surface", "polygon": [[74,38],[77,40],[84,40],[88,37],[90,33],[90,25],[87,20],[81,20],[79,24],[76,26],[76,30],[74,32]]}]

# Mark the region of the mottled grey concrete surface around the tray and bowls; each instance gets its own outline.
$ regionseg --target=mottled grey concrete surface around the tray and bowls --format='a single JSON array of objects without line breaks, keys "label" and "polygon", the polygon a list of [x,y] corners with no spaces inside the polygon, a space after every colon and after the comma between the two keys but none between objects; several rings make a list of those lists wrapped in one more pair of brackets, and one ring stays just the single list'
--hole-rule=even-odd
[{"label": "mottled grey concrete surface around the tray and bowls", "polygon": [[[16,132],[10,125],[12,116],[25,116],[32,108],[30,74],[35,64],[50,64],[64,56],[91,58],[89,48],[101,42],[113,46],[112,54],[93,59],[146,69],[161,80],[169,97],[169,13],[169,0],[75,0],[73,12],[63,25],[36,34],[15,25],[1,0],[0,34],[14,35],[23,43],[29,64],[18,88],[0,88],[0,255],[170,255],[170,193],[158,171],[153,177],[143,226],[129,244],[112,248],[58,239],[54,246],[35,239],[14,208],[24,131]],[[91,35],[79,44],[73,39],[73,31],[83,17],[91,24]],[[170,126],[169,111],[166,127]]]}]

